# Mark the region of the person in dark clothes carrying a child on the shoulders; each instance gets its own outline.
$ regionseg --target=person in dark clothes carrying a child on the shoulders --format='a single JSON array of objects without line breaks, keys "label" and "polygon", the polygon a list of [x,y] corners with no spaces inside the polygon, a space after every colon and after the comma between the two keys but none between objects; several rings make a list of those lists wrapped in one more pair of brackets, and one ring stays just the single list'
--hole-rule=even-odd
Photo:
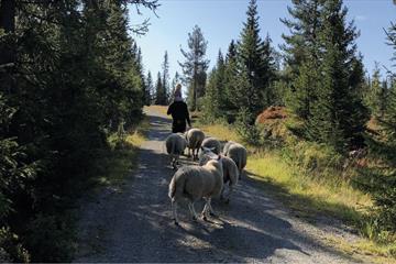
[{"label": "person in dark clothes carrying a child on the shoulders", "polygon": [[[186,124],[191,128],[187,103],[182,97],[182,85],[177,84],[174,92],[174,101],[167,110],[167,114],[172,116],[172,133],[186,132]],[[187,122],[186,122],[187,121]]]}]

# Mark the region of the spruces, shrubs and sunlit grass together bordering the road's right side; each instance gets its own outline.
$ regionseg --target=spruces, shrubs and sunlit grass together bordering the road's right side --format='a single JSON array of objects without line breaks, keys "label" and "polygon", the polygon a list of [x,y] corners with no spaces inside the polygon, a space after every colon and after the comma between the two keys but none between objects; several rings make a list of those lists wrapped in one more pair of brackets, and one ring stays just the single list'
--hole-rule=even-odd
[{"label": "spruces, shrubs and sunlit grass together bordering the road's right side", "polygon": [[[288,194],[292,208],[339,218],[395,256],[395,74],[364,76],[341,0],[293,1],[288,11],[279,66],[250,1],[240,38],[209,74],[202,128],[250,144],[251,176]],[[396,48],[393,23],[386,33]]]}]

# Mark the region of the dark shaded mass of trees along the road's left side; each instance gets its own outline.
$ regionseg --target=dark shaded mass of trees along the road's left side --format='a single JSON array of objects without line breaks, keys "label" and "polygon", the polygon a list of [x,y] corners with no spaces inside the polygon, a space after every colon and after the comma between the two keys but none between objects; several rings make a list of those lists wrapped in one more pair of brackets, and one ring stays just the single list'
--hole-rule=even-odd
[{"label": "dark shaded mass of trees along the road's left side", "polygon": [[68,262],[73,198],[107,136],[139,122],[146,100],[128,4],[0,4],[0,261]]}]

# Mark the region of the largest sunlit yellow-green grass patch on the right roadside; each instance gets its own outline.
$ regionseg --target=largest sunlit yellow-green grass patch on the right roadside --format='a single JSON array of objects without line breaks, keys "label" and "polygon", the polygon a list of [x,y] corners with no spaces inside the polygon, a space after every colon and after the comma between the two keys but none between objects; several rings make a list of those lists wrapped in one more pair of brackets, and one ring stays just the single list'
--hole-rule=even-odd
[{"label": "largest sunlit yellow-green grass patch on the right roadside", "polygon": [[250,157],[246,170],[252,177],[266,183],[289,207],[305,215],[324,212],[354,222],[360,220],[362,208],[371,205],[370,196],[346,183],[310,177],[276,153]]}]

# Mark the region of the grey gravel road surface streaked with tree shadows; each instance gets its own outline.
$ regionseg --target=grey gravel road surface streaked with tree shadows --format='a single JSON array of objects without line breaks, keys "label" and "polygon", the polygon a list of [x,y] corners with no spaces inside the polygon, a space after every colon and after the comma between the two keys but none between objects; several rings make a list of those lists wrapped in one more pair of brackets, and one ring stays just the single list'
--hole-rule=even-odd
[{"label": "grey gravel road surface streaked with tree shadows", "polygon": [[[321,242],[329,232],[353,240],[352,234],[333,221],[314,226],[294,217],[246,177],[229,205],[212,201],[219,218],[193,222],[182,204],[180,226],[175,226],[167,196],[174,172],[163,145],[170,123],[160,113],[147,114],[152,129],[141,147],[139,168],[122,187],[105,188],[81,202],[74,262],[360,262]],[[196,210],[201,209],[197,204]]]}]

